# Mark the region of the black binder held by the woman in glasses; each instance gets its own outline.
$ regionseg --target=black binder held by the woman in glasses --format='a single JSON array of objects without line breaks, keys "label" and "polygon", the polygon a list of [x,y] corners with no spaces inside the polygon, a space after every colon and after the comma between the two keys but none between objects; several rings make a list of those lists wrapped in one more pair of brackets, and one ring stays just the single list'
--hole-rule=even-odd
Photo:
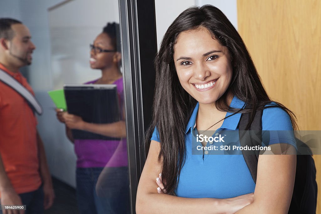
[{"label": "black binder held by the woman in glasses", "polygon": [[[68,113],[96,124],[121,120],[116,85],[64,85]],[[74,139],[120,140],[82,130],[72,130]]]}]

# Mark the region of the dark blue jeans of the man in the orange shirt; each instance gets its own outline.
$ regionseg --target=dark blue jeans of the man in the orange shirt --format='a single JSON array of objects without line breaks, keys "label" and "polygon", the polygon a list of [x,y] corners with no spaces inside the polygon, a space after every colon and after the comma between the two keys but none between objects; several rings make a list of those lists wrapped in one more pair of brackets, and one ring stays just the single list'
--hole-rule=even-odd
[{"label": "dark blue jeans of the man in the orange shirt", "polygon": [[[19,194],[22,204],[26,205],[26,212],[25,214],[43,214],[44,207],[43,207],[43,189],[42,186],[38,190],[29,192],[29,193],[22,193]],[[11,205],[11,204],[5,204]],[[2,210],[0,210],[0,214],[2,214]]]}]

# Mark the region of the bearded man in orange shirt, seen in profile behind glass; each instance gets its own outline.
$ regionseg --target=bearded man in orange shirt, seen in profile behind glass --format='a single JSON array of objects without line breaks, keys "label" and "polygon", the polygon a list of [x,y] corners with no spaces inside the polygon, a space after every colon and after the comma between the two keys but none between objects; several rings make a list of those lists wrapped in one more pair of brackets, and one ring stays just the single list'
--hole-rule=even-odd
[{"label": "bearded man in orange shirt, seen in profile behind glass", "polygon": [[[31,64],[36,47],[30,39],[29,29],[22,22],[0,19],[0,69],[34,95],[19,72],[22,66]],[[27,205],[26,213],[43,213],[55,197],[36,125],[27,101],[0,80],[0,203]]]}]

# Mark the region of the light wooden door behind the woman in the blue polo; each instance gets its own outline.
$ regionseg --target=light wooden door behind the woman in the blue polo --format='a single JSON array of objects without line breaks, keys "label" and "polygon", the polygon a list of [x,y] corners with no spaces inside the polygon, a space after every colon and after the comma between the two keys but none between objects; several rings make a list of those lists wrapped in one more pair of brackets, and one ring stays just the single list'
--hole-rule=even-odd
[{"label": "light wooden door behind the woman in the blue polo", "polygon": [[[269,96],[300,130],[321,130],[321,1],[238,0],[238,26]],[[321,155],[314,159],[321,213]]]}]

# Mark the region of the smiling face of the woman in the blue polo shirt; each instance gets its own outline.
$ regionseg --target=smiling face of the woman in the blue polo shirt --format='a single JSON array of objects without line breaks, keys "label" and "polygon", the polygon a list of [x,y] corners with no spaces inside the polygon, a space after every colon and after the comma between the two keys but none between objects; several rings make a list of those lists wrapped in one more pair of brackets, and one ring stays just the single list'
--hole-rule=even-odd
[{"label": "smiling face of the woman in the blue polo shirt", "polygon": [[198,102],[213,104],[229,87],[229,51],[206,28],[182,32],[173,57],[182,87]]}]

